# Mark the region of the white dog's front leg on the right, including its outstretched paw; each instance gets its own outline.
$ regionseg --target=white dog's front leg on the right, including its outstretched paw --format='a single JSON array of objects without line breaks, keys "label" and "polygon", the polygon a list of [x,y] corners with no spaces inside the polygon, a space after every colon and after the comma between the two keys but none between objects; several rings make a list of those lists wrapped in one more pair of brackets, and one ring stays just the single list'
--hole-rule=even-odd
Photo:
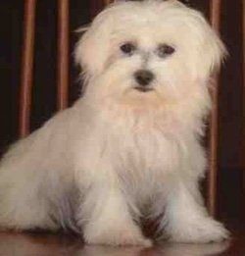
[{"label": "white dog's front leg on the right, including its outstretched paw", "polygon": [[196,180],[175,179],[166,192],[165,216],[160,224],[173,241],[205,243],[221,241],[228,231],[210,217]]}]

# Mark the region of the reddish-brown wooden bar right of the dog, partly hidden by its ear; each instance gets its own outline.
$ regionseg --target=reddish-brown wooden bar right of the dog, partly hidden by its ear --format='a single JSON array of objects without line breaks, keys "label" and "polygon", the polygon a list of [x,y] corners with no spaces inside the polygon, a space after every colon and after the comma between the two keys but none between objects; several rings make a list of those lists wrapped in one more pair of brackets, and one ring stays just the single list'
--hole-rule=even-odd
[{"label": "reddish-brown wooden bar right of the dog, partly hidden by its ear", "polygon": [[[211,0],[210,21],[212,26],[220,31],[221,26],[221,0]],[[210,117],[210,163],[208,173],[208,209],[211,215],[216,215],[217,206],[217,179],[218,179],[218,143],[219,143],[219,77],[215,77],[211,91],[213,110]]]}]

